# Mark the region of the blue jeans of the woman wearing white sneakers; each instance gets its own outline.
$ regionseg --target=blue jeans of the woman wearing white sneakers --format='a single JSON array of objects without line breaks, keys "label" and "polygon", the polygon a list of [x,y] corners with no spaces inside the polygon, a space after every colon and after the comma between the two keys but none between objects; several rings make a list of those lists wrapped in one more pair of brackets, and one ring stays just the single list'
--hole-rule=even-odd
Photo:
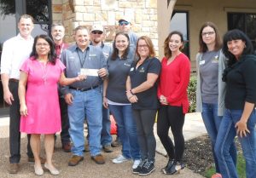
[{"label": "blue jeans of the woman wearing white sneakers", "polygon": [[122,143],[122,154],[125,158],[140,159],[140,149],[137,142],[137,128],[132,115],[131,105],[108,105],[119,126],[119,137]]}]

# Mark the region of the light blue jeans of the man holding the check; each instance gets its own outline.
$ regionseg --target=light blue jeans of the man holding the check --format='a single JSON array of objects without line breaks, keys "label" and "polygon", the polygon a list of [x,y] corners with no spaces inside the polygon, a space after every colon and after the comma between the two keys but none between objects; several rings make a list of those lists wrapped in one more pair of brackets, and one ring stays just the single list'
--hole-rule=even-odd
[{"label": "light blue jeans of the man holding the check", "polygon": [[100,88],[88,91],[71,90],[73,104],[68,106],[70,123],[69,135],[73,141],[71,151],[74,155],[84,155],[84,118],[86,116],[90,133],[90,155],[101,153],[102,133],[102,93]]}]

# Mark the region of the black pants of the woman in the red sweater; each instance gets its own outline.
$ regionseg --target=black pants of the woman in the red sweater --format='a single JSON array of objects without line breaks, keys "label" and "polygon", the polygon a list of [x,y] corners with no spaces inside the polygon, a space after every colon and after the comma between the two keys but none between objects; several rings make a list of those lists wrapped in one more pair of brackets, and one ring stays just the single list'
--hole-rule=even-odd
[{"label": "black pants of the woman in the red sweater", "polygon": [[[157,118],[157,135],[171,159],[182,161],[184,152],[183,124],[185,115],[182,106],[161,106]],[[172,129],[175,146],[168,135]]]}]

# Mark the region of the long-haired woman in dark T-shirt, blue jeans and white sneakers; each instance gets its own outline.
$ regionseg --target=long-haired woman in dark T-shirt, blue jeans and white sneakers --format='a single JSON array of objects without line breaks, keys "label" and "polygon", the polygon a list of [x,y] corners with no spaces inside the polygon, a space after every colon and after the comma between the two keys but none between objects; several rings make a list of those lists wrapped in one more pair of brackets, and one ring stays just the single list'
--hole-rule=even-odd
[{"label": "long-haired woman in dark T-shirt, blue jeans and white sneakers", "polygon": [[108,79],[104,80],[103,106],[109,107],[118,123],[122,153],[113,158],[113,164],[133,160],[132,169],[140,163],[140,151],[137,142],[136,123],[131,112],[131,103],[125,95],[125,82],[134,59],[134,49],[129,47],[129,37],[118,32],[113,41],[113,54],[108,58]]}]

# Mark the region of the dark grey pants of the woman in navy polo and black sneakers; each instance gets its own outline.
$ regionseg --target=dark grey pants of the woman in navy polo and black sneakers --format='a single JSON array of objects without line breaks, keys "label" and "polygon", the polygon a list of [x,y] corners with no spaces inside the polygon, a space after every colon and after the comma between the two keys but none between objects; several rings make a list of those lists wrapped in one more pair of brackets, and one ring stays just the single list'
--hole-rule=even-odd
[{"label": "dark grey pants of the woman in navy polo and black sneakers", "polygon": [[156,110],[133,109],[132,112],[137,125],[137,141],[140,146],[141,158],[154,162],[156,147],[154,120]]}]

